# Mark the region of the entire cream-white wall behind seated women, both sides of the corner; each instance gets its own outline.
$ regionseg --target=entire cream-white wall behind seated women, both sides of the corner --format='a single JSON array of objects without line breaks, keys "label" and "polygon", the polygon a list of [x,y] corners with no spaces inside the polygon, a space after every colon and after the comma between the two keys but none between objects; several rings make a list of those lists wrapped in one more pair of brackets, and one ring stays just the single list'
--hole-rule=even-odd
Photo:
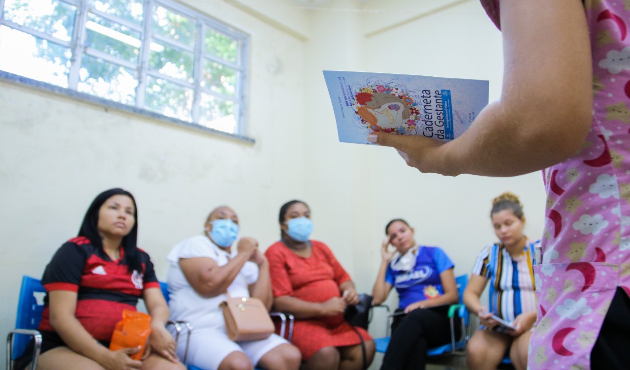
[{"label": "entire cream-white wall behind seated women, both sides of the corner", "polygon": [[[289,0],[183,2],[251,35],[247,134],[256,143],[0,82],[3,332],[13,327],[21,275],[40,276],[93,197],[114,186],[137,197],[139,244],[161,279],[171,246],[200,232],[221,204],[239,213],[242,235],[266,249],[278,237],[279,206],[303,199],[312,208],[313,237],[333,249],[360,291],[371,291],[391,218],[410,221],[417,242],[443,247],[456,274],[469,272],[481,247],[495,240],[488,212],[503,191],[521,196],[526,232],[541,235],[539,173],[421,174],[393,149],[337,139],[323,69],[488,79],[497,99],[500,33],[477,1],[437,13],[431,9],[442,0],[415,8],[404,8],[406,0],[336,0],[321,9]],[[375,53],[374,45],[393,52]]]}]

